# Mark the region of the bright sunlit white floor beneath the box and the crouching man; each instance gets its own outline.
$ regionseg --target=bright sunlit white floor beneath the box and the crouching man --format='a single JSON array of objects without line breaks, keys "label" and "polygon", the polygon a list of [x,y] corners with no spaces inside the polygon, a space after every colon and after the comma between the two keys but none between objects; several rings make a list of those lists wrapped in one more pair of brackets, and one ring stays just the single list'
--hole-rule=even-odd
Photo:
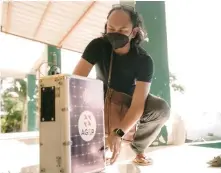
[{"label": "bright sunlit white floor beneath the box and the crouching man", "polygon": [[[27,145],[16,140],[0,140],[0,173],[39,173],[38,145]],[[221,168],[210,168],[208,160],[221,154],[221,149],[196,146],[168,146],[149,148],[154,164],[138,167],[131,163],[134,153],[124,146],[116,164],[108,166],[106,173],[162,173],[197,172],[220,173]]]}]

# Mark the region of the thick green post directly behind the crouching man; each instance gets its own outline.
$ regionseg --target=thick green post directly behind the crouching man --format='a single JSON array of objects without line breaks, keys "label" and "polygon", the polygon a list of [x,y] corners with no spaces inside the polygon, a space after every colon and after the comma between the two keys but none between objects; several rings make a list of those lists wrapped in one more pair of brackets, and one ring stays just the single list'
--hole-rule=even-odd
[{"label": "thick green post directly behind the crouching man", "polygon": [[[148,31],[149,43],[145,42],[143,48],[152,56],[155,65],[151,93],[170,104],[165,2],[136,1],[135,9],[142,15]],[[162,137],[163,141],[159,142]],[[163,127],[156,141],[158,144],[167,144],[167,139],[167,129]]]}]

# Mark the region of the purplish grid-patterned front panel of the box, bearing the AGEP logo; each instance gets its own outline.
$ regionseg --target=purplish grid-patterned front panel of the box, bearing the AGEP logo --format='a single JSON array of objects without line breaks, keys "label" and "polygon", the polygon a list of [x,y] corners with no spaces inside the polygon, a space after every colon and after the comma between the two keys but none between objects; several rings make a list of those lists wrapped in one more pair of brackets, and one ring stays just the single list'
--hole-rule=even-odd
[{"label": "purplish grid-patterned front panel of the box, bearing the AGEP logo", "polygon": [[[100,84],[91,81],[71,78],[70,88],[70,131],[71,131],[71,164],[72,172],[83,173],[101,171],[104,169],[103,93]],[[96,100],[97,98],[100,100]],[[96,100],[96,103],[94,102]],[[100,102],[100,103],[98,103]],[[94,103],[100,106],[94,106]]]}]

